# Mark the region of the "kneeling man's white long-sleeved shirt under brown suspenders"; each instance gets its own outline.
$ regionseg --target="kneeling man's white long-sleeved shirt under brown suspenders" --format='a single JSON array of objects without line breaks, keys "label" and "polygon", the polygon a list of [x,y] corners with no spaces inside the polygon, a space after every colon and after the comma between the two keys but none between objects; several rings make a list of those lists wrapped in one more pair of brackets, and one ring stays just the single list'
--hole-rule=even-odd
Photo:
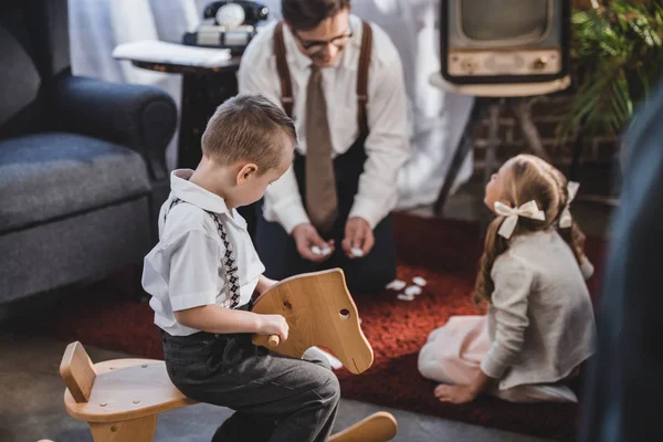
[{"label": "kneeling man's white long-sleeved shirt under brown suspenders", "polygon": [[[327,102],[327,123],[334,155],[346,152],[359,137],[357,124],[357,62],[361,48],[361,20],[350,15],[352,38],[334,67],[323,69],[323,91]],[[255,92],[281,104],[281,81],[276,71],[272,23],[256,35],[242,56],[238,75],[240,92]],[[360,217],[375,228],[397,201],[398,170],[410,154],[407,125],[407,95],[398,51],[387,33],[371,24],[373,49],[368,76],[368,136],[365,148],[368,159],[359,179],[359,191],[349,217]],[[299,145],[306,152],[306,86],[311,76],[311,59],[296,45],[294,36],[283,30],[286,61],[293,84],[293,119]],[[299,223],[309,222],[302,204],[292,167],[266,191],[264,215],[278,221],[290,233]]]}]

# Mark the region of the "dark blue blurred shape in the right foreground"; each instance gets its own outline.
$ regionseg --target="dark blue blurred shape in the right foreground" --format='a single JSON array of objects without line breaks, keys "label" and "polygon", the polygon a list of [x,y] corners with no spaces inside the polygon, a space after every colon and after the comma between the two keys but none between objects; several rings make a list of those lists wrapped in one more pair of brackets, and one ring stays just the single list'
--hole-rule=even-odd
[{"label": "dark blue blurred shape in the right foreground", "polygon": [[663,441],[663,84],[627,134],[582,442]]}]

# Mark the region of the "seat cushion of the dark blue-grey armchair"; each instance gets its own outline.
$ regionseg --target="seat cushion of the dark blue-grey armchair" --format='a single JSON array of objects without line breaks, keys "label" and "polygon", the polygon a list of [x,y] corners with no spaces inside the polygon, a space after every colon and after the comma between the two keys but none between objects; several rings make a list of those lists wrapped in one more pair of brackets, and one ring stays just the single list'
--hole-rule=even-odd
[{"label": "seat cushion of the dark blue-grey armchair", "polygon": [[0,141],[0,232],[149,190],[143,158],[126,147],[63,133]]}]

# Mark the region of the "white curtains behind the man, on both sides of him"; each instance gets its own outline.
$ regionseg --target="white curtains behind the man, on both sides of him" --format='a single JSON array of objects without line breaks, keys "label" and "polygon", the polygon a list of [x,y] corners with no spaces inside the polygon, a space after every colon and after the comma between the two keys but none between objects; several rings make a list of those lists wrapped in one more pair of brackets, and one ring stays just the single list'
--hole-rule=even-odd
[{"label": "white curtains behind the man, on both sides of him", "polygon": [[[113,49],[129,41],[159,39],[180,42],[200,21],[207,0],[70,0],[72,65],[77,75],[112,82],[149,84],[164,88],[179,105],[181,78],[136,69],[110,56]],[[281,0],[263,0],[273,19],[281,18]],[[359,17],[385,29],[403,63],[409,97],[412,157],[399,176],[399,207],[433,202],[453,151],[467,122],[472,98],[444,93],[429,85],[439,70],[438,0],[354,0]],[[176,164],[176,140],[168,149],[168,164]],[[463,165],[456,183],[472,173],[472,156]]]}]

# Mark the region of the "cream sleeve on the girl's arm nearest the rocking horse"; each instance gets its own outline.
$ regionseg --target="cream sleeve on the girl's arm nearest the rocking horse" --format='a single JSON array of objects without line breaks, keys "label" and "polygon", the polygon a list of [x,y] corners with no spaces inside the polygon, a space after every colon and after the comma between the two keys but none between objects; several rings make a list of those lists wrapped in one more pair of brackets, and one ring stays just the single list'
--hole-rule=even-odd
[{"label": "cream sleeve on the girl's arm nearest the rocking horse", "polygon": [[502,255],[491,272],[495,290],[491,298],[495,337],[481,364],[484,373],[499,379],[512,367],[522,348],[529,325],[527,302],[534,283],[533,271],[516,257]]}]

